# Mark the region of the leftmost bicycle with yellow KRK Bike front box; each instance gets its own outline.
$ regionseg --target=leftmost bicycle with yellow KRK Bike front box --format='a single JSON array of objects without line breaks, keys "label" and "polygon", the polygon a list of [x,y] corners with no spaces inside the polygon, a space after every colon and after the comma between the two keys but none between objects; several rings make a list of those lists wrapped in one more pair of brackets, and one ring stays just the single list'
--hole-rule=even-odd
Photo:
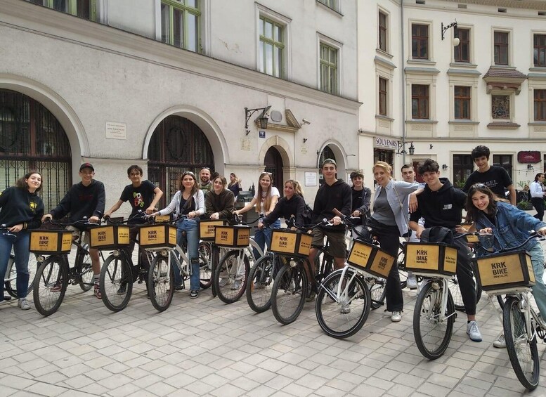
[{"label": "leftmost bicycle with yellow KRK Bike front box", "polygon": [[[89,223],[87,219],[71,223],[50,220],[50,223],[55,226],[86,229],[98,226],[96,223]],[[71,268],[68,264],[68,254],[72,245],[76,246],[76,256],[74,267]],[[58,310],[69,283],[79,285],[84,292],[93,287],[91,257],[87,245],[82,242],[82,232],[74,240],[70,230],[31,230],[30,252],[38,255],[32,298],[36,310],[41,315],[51,315]]]}]

